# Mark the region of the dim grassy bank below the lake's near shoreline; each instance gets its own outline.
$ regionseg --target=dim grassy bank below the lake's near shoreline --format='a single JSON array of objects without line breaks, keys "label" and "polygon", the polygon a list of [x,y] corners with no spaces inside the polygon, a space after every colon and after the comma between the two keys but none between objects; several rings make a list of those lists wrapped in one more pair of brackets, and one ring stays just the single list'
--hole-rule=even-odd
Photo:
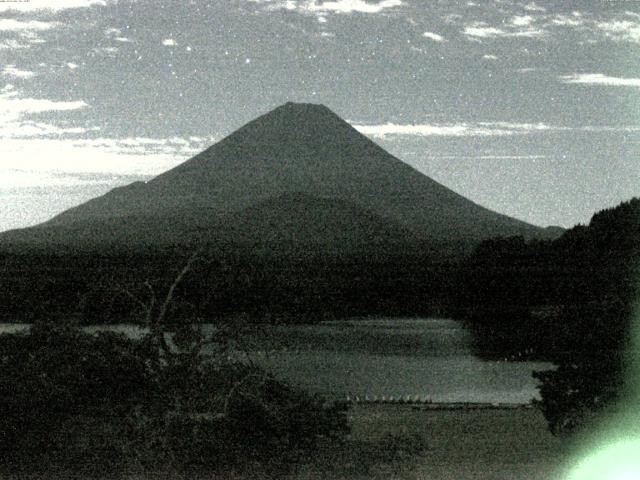
[{"label": "dim grassy bank below the lake's near shoreline", "polygon": [[[124,480],[555,480],[568,445],[552,436],[535,409],[417,411],[404,405],[355,405],[344,444],[320,445],[286,477],[246,465],[219,477],[175,472],[130,473]],[[3,480],[18,477],[4,475]],[[71,478],[69,473],[29,480]],[[81,477],[78,477],[81,478]],[[101,478],[110,477],[105,472]],[[20,480],[26,477],[20,477]]]}]

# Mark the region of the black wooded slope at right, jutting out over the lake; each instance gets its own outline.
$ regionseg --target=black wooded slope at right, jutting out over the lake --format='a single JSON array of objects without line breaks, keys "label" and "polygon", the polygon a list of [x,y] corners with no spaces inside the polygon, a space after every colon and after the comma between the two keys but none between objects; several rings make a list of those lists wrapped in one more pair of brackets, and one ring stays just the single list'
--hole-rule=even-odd
[{"label": "black wooded slope at right, jutting out over the lake", "polygon": [[[640,291],[640,199],[596,213],[554,241],[485,242],[463,270],[481,355],[538,359],[541,408],[554,433],[623,405]],[[637,321],[637,320],[636,320]],[[637,360],[637,358],[636,358]]]}]

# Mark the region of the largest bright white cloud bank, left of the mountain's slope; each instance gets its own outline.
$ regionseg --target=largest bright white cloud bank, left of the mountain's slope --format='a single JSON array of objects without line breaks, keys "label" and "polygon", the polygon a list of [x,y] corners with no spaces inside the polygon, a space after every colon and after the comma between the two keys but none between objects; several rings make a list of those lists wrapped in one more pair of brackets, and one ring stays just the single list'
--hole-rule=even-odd
[{"label": "largest bright white cloud bank, left of the mountain's slope", "polygon": [[5,86],[0,90],[0,170],[159,173],[217,140],[214,137],[87,138],[100,128],[58,126],[29,118],[31,114],[73,112],[87,107],[84,101],[21,98],[15,87]]}]

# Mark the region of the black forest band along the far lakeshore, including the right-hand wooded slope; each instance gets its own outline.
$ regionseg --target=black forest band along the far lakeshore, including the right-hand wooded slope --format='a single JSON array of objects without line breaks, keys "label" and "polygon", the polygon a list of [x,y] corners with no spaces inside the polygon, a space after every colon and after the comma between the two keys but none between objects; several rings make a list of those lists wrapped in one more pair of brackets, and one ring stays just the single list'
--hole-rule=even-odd
[{"label": "black forest band along the far lakeshore, including the right-hand wooded slope", "polygon": [[[180,325],[446,313],[468,325],[482,357],[558,365],[537,373],[540,407],[553,431],[570,431],[623,390],[639,228],[640,199],[632,199],[556,240],[487,240],[462,259],[428,249],[287,257],[205,245],[166,318]],[[151,292],[169,290],[190,255],[182,247],[5,251],[0,319],[139,322]]]}]

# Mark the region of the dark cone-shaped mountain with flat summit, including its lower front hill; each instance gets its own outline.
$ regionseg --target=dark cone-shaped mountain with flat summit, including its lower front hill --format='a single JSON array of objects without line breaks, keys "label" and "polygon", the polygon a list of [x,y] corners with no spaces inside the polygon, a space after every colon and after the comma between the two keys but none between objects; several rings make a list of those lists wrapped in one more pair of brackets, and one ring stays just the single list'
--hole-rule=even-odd
[{"label": "dark cone-shaped mountain with flat summit, including its lower front hill", "polygon": [[[321,105],[287,103],[151,181],[116,188],[2,243],[471,245],[555,236],[393,157]],[[346,247],[345,247],[346,248]]]}]

